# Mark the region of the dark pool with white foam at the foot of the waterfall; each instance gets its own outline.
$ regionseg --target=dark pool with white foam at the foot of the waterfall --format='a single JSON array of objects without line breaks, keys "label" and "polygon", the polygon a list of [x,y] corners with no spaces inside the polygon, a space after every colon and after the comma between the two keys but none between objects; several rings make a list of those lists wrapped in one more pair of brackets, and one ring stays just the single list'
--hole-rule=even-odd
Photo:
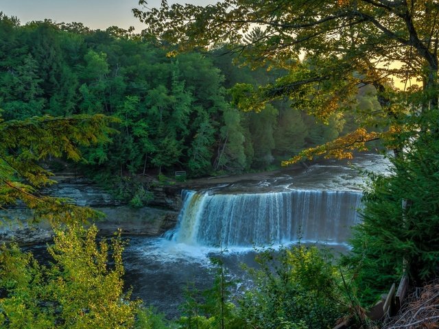
[{"label": "dark pool with white foam at the foot of the waterfall", "polygon": [[[185,287],[192,284],[199,290],[209,289],[214,278],[210,257],[219,258],[216,248],[174,245],[163,238],[146,239],[130,236],[124,264],[125,282],[132,287],[132,297],[139,297],[145,305],[173,319],[179,315],[184,302]],[[328,245],[335,254],[346,252],[346,245]],[[223,253],[228,277],[237,282],[233,294],[243,293],[251,285],[250,278],[241,265],[257,267],[255,252],[251,247]]]}]

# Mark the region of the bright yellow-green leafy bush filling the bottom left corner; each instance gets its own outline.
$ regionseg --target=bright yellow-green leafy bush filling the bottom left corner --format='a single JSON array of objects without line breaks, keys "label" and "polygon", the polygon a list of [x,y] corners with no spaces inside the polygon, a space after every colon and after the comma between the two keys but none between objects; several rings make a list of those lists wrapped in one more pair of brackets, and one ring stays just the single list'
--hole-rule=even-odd
[{"label": "bright yellow-green leafy bush filling the bottom left corner", "polygon": [[[123,293],[120,236],[96,243],[97,228],[57,230],[49,267],[16,245],[0,248],[0,326],[132,328],[140,302]],[[108,265],[111,254],[112,265]]]}]

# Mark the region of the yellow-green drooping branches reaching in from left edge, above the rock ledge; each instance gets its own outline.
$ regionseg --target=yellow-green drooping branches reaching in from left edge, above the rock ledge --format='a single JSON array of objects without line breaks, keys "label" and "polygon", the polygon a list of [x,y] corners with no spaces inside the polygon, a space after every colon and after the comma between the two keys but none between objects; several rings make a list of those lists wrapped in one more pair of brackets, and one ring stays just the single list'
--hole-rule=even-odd
[{"label": "yellow-green drooping branches reaching in from left edge, above the rock ledge", "polygon": [[84,221],[99,214],[69,204],[67,199],[39,195],[38,188],[54,184],[40,160],[49,156],[81,159],[78,147],[109,141],[114,121],[102,114],[72,117],[33,117],[23,121],[0,119],[0,206],[19,200],[34,210],[34,218],[50,221]]}]

